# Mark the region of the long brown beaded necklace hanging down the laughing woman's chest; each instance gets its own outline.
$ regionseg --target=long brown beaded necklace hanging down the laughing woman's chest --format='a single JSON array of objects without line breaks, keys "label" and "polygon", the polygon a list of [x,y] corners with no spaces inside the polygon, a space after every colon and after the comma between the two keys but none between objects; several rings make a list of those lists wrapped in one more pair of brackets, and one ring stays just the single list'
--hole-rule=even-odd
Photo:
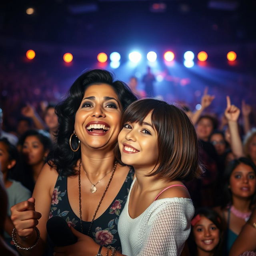
[{"label": "long brown beaded necklace hanging down the laughing woman's chest", "polygon": [[[80,160],[79,168],[78,168],[78,189],[79,189],[80,226],[81,226],[81,232],[83,233],[83,225],[82,225],[82,203],[81,203],[81,163],[82,163],[82,159]],[[115,162],[115,164],[114,164],[114,168],[113,168],[113,170],[112,170],[111,177],[110,177],[110,179],[109,179],[109,181],[108,181],[108,185],[106,186],[106,188],[105,188],[105,190],[104,190],[104,193],[103,193],[102,197],[100,198],[100,202],[99,202],[99,204],[98,204],[98,206],[97,206],[97,208],[96,208],[96,211],[94,212],[94,215],[93,215],[93,217],[92,217],[92,221],[91,221],[91,224],[90,224],[88,233],[87,233],[88,236],[89,236],[90,231],[91,231],[91,229],[92,229],[92,223],[94,222],[95,216],[96,216],[96,214],[97,214],[97,212],[98,212],[98,210],[99,210],[99,208],[100,208],[100,205],[101,205],[101,203],[102,203],[102,200],[103,200],[103,198],[104,198],[104,196],[105,196],[105,194],[106,194],[106,192],[107,192],[107,190],[108,190],[108,187],[109,187],[109,185],[110,185],[110,182],[111,182],[111,180],[112,180],[112,178],[113,178],[113,176],[114,176],[114,172],[116,171],[116,166],[117,166],[117,162]],[[104,177],[103,177],[103,178],[104,178]]]}]

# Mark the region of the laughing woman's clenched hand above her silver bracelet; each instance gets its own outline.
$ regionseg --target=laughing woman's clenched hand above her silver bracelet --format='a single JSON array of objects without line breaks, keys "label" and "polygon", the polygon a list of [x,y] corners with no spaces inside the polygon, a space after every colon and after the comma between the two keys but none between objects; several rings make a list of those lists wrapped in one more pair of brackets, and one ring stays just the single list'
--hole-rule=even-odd
[{"label": "laughing woman's clenched hand above her silver bracelet", "polygon": [[35,211],[33,197],[11,207],[11,220],[20,238],[26,240],[35,234],[35,227],[41,218],[40,212]]}]

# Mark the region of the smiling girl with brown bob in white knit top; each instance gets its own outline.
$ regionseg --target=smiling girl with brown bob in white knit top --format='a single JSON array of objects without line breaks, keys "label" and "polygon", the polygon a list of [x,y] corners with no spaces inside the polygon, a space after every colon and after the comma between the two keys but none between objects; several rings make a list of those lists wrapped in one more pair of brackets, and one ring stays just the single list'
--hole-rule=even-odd
[{"label": "smiling girl with brown bob in white knit top", "polygon": [[136,174],[118,222],[122,253],[180,255],[194,215],[182,180],[201,173],[194,126],[182,110],[155,99],[132,103],[122,124],[118,156]]}]

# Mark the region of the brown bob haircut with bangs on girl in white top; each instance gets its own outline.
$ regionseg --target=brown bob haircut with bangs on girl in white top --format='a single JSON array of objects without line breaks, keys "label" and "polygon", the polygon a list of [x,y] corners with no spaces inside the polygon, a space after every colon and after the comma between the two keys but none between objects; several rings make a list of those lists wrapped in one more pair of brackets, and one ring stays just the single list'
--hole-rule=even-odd
[{"label": "brown bob haircut with bangs on girl in white top", "polygon": [[[198,140],[194,126],[179,108],[162,100],[143,99],[133,102],[122,116],[126,122],[142,125],[151,112],[151,122],[158,134],[158,168],[147,176],[164,180],[191,180],[199,178],[202,168],[198,162]],[[121,154],[116,150],[121,162]]]}]

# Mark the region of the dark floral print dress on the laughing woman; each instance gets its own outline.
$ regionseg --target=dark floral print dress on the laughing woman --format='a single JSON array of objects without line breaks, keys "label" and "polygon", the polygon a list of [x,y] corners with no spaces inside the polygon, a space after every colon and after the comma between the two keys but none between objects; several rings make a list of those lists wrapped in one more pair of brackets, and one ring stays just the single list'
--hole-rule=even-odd
[{"label": "dark floral print dress on the laughing woman", "polygon": [[[121,242],[117,232],[117,224],[120,213],[124,208],[130,186],[134,177],[134,170],[131,168],[128,172],[126,180],[119,190],[116,198],[110,204],[109,208],[92,224],[89,236],[94,241],[102,246],[113,246],[116,250],[121,252]],[[74,214],[68,201],[67,195],[67,177],[58,176],[52,193],[52,204],[50,209],[50,216],[61,216],[66,220],[68,226],[74,227],[79,232],[80,218]],[[82,221],[83,233],[87,234],[91,222]]]}]

